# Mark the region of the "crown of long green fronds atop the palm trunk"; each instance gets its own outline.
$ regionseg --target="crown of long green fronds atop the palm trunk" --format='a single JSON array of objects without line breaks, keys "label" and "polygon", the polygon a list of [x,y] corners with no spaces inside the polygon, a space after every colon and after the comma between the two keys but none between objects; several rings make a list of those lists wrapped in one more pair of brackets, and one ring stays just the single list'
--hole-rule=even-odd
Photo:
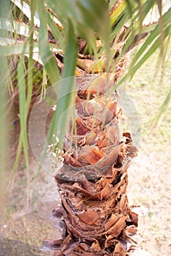
[{"label": "crown of long green fronds atop the palm trunk", "polygon": [[[164,45],[165,42],[170,41],[171,9],[167,7],[163,12],[162,1],[10,1],[29,20],[29,24],[26,24],[15,17],[8,19],[0,17],[0,30],[7,31],[10,35],[10,37],[0,37],[0,56],[14,54],[21,56],[18,66],[18,86],[20,87],[21,81],[25,80],[22,67],[24,56],[28,56],[29,88],[33,85],[31,59],[41,59],[40,63],[44,65],[52,84],[61,80],[61,83],[58,83],[58,108],[48,140],[56,132],[58,116],[67,113],[66,110],[72,102],[71,91],[75,90],[75,79],[72,80],[71,85],[64,84],[64,79],[75,77],[77,64],[83,74],[96,72],[100,75],[104,71],[114,72],[121,58],[142,42],[129,65],[128,72],[115,85],[117,87],[126,79],[132,78],[157,48],[161,48],[161,57],[164,61]],[[151,18],[153,10],[159,12],[156,20]],[[86,46],[77,55],[79,39]],[[62,73],[58,68],[56,53],[60,53],[64,59]],[[23,91],[20,95],[20,104],[27,105],[27,111],[31,101],[31,90],[27,99],[24,98]],[[25,122],[25,128],[21,126],[21,132],[24,134],[26,116],[24,113],[20,113],[20,116]],[[64,121],[61,126],[65,131]],[[25,136],[22,138],[26,149],[26,135],[23,136]],[[64,132],[61,133],[61,145],[63,138]]]}]

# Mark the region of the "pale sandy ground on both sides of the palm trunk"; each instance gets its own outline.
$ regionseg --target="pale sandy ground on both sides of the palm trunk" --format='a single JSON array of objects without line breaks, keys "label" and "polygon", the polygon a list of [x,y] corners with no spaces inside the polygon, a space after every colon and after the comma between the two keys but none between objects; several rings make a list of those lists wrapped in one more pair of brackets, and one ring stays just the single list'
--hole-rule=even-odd
[{"label": "pale sandy ground on both sides of the palm trunk", "polygon": [[[171,60],[167,62],[163,82],[159,84],[159,69],[155,69],[154,58],[140,69],[129,84],[123,86],[140,114],[142,126],[140,151],[129,168],[129,202],[130,205],[140,206],[135,208],[140,215],[140,247],[150,252],[151,256],[170,256],[171,106],[155,129],[150,130],[149,124],[170,90]],[[13,129],[16,132],[16,127]],[[0,219],[0,255],[50,255],[50,252],[40,252],[39,247],[45,238],[59,236],[57,227],[50,221],[50,213],[58,203],[56,186],[50,175],[42,171],[27,208],[23,162],[19,169],[9,190],[7,214]],[[35,173],[37,162],[31,157],[30,180]]]}]

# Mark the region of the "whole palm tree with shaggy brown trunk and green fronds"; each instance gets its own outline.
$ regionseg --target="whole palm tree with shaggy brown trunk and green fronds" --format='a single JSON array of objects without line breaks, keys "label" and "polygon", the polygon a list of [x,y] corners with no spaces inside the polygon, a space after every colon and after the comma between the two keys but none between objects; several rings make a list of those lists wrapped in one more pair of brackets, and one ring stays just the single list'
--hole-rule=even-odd
[{"label": "whole palm tree with shaggy brown trunk and green fronds", "polygon": [[[51,136],[58,135],[51,151],[57,161],[59,157],[63,159],[55,176],[61,204],[52,214],[61,239],[45,241],[43,248],[53,250],[55,255],[130,255],[136,246],[132,236],[136,233],[137,214],[126,197],[127,168],[137,148],[129,132],[123,133],[119,127],[121,110],[116,89],[132,78],[159,45],[164,59],[164,44],[170,39],[171,10],[163,14],[159,1],[32,0],[23,1],[25,5],[12,2],[31,18],[29,27],[21,24],[19,31],[15,30],[21,34],[25,26],[28,34],[24,36],[29,41],[21,48],[21,39],[6,40],[7,46],[1,52],[21,53],[19,152],[23,144],[27,165],[26,116],[37,40],[50,82],[60,80],[57,109],[47,140],[50,143]],[[159,21],[143,26],[155,3],[159,7]],[[139,42],[142,46],[125,73],[126,56]],[[26,53],[27,95],[22,90]],[[74,110],[69,116],[71,105]]]}]

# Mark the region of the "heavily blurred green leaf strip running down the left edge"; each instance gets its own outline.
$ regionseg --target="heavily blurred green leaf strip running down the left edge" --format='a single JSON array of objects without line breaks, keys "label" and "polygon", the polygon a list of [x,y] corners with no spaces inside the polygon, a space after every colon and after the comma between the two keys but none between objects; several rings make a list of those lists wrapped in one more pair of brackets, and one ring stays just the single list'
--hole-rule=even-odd
[{"label": "heavily blurred green leaf strip running down the left edge", "polygon": [[[7,19],[10,12],[9,1],[0,1],[0,18]],[[7,37],[7,31],[0,29],[0,37]],[[7,177],[9,176],[9,161],[8,152],[8,123],[7,123],[7,90],[10,84],[10,70],[8,61],[5,56],[1,56],[0,61],[0,202],[1,214],[5,213],[7,204]]]}]

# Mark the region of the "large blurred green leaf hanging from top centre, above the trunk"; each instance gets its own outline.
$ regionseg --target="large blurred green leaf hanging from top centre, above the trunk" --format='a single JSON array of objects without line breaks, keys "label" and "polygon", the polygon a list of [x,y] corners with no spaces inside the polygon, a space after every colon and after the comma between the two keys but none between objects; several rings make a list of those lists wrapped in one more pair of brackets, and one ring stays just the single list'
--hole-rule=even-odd
[{"label": "large blurred green leaf hanging from top centre, above the trunk", "polygon": [[94,48],[95,36],[99,35],[109,53],[110,18],[106,1],[47,0],[47,7],[57,15],[64,30],[68,19],[71,20],[77,37],[86,39],[91,47]]}]

